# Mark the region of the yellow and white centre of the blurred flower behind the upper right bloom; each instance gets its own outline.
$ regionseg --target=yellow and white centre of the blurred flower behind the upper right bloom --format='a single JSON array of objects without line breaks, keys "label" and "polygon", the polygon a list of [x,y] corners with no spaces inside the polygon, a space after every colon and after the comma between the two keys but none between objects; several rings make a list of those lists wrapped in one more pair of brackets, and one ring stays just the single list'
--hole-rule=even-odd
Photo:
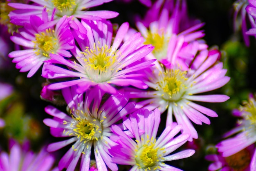
[{"label": "yellow and white centre of the blurred flower behind the upper right bloom", "polygon": [[148,31],[148,36],[145,38],[144,44],[152,44],[155,47],[152,53],[157,60],[160,60],[166,58],[168,42],[169,37],[165,36],[164,33],[158,34]]}]

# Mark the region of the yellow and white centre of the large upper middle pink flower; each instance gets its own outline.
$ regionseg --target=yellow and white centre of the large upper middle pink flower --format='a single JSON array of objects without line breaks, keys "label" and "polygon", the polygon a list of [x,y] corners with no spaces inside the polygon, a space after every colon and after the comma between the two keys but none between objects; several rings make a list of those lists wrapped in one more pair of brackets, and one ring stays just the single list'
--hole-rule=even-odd
[{"label": "yellow and white centre of the large upper middle pink flower", "polygon": [[121,70],[115,68],[117,63],[116,52],[112,52],[112,47],[108,48],[107,45],[98,47],[94,43],[94,48],[89,49],[89,47],[86,47],[85,52],[82,53],[85,56],[84,61],[87,66],[86,73],[92,81],[108,81],[113,71],[118,72]]}]

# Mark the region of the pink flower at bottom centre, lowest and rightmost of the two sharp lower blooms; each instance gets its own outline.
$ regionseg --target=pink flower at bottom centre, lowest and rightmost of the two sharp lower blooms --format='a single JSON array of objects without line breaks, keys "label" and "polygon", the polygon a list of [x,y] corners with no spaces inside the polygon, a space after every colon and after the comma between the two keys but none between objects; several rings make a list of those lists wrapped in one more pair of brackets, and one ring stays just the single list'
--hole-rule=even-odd
[{"label": "pink flower at bottom centre, lowest and rightmost of the two sharp lower blooms", "polygon": [[[124,121],[124,124],[133,134],[135,140],[117,125],[113,125],[111,129],[116,135],[111,136],[110,139],[117,145],[109,150],[113,155],[112,162],[131,165],[131,171],[180,171],[164,162],[188,158],[195,153],[194,150],[189,149],[170,154],[189,139],[189,134],[177,135],[182,126],[173,123],[168,125],[157,138],[159,123],[160,112],[158,109],[155,111],[141,109],[133,113],[129,119]],[[140,130],[144,131],[142,135]]]}]

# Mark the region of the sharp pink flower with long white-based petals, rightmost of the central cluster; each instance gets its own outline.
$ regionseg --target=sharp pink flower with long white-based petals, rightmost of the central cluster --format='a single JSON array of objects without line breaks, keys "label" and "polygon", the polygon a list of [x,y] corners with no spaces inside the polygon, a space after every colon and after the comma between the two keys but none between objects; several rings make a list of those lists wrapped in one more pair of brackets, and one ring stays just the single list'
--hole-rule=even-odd
[{"label": "sharp pink flower with long white-based petals, rightmost of the central cluster", "polygon": [[[209,56],[208,56],[209,55]],[[166,125],[173,122],[173,115],[178,124],[182,124],[182,131],[189,133],[191,138],[198,138],[197,131],[191,124],[210,124],[205,116],[217,117],[217,113],[193,101],[199,102],[225,102],[227,95],[196,95],[218,89],[229,82],[227,72],[222,62],[218,62],[218,51],[199,54],[193,61],[193,68],[183,71],[178,65],[172,69],[156,65],[146,70],[149,81],[148,87],[153,90],[142,91],[125,88],[130,92],[130,98],[148,98],[137,103],[137,108],[146,107],[149,110],[158,108],[161,113],[167,110]]]}]

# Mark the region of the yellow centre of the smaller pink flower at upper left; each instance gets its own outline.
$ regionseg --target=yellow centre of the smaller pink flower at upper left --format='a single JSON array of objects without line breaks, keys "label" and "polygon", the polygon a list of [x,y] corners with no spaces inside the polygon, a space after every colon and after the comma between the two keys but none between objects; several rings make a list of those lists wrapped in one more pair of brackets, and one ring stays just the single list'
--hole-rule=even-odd
[{"label": "yellow centre of the smaller pink flower at upper left", "polygon": [[57,39],[54,36],[54,30],[46,29],[45,32],[40,32],[35,34],[34,49],[36,50],[36,55],[43,55],[49,57],[50,53],[56,53],[58,49]]}]

